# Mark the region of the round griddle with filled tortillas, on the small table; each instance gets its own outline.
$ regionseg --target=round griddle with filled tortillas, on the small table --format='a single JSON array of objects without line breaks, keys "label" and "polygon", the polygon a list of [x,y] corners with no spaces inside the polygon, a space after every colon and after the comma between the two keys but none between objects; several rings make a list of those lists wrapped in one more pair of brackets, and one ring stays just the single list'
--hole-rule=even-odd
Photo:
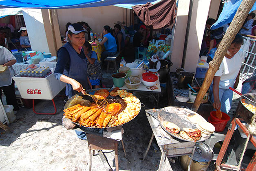
[{"label": "round griddle with filled tortillas, on the small table", "polygon": [[[161,127],[163,128],[163,130],[165,130],[171,136],[174,136],[175,138],[178,138],[183,141],[194,142],[194,141],[187,140],[187,139],[181,137],[179,134],[172,134],[172,133],[168,132],[166,130],[166,127],[163,126],[163,121],[168,121],[168,122],[172,122],[172,123],[178,125],[181,130],[183,130],[184,127],[197,129],[196,124],[190,122],[187,118],[188,114],[191,114],[191,113],[199,115],[198,113],[196,113],[192,110],[186,109],[186,108],[168,106],[168,107],[164,107],[159,112],[157,118],[158,118],[158,121],[159,121]],[[199,115],[199,116],[201,116],[201,115]],[[203,116],[201,116],[201,118],[202,118],[202,121],[207,122],[205,120],[205,118],[203,118]],[[210,134],[206,135],[206,136],[201,136],[200,140],[197,140],[196,142],[207,140],[208,138],[210,138],[210,136],[211,136]]]}]

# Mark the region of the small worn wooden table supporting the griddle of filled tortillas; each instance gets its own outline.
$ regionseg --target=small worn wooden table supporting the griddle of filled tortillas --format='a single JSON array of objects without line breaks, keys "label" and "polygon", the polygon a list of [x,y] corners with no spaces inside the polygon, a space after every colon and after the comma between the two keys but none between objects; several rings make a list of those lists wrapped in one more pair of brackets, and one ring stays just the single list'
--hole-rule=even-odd
[{"label": "small worn wooden table supporting the griddle of filled tortillas", "polygon": [[[161,128],[159,122],[157,121],[156,112],[154,112],[156,110],[145,111],[153,133],[148,144],[148,148],[143,156],[143,160],[147,156],[153,138],[156,138],[157,145],[159,146],[162,153],[158,171],[162,170],[166,157],[185,156],[192,153],[191,158],[193,158],[196,142],[186,142],[170,136]],[[191,162],[192,160],[190,161],[190,164]],[[188,170],[190,169],[190,164],[188,166]]]}]

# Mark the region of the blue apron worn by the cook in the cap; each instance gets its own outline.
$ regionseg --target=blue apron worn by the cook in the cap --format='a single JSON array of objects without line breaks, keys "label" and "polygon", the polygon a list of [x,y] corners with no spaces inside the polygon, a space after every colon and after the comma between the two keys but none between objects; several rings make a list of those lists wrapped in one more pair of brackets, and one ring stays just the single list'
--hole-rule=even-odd
[{"label": "blue apron worn by the cook in the cap", "polygon": [[[88,90],[88,79],[87,79],[87,62],[86,59],[82,59],[78,56],[75,49],[69,44],[66,43],[64,46],[66,50],[68,50],[70,56],[70,68],[69,71],[64,69],[63,74],[67,77],[75,79],[77,82],[82,84],[85,90]],[[83,49],[81,53],[84,53]],[[66,95],[71,98],[73,95],[77,94],[78,92],[73,90],[71,84],[66,84]]]}]

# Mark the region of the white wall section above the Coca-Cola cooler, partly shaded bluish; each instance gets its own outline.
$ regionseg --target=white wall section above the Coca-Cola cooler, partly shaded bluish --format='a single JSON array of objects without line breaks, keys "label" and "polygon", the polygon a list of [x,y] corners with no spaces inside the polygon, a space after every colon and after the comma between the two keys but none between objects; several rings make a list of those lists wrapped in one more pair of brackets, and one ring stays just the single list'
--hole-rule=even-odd
[{"label": "white wall section above the Coca-Cola cooler, partly shaded bluish", "polygon": [[22,12],[32,50],[49,52],[41,9],[23,9]]}]

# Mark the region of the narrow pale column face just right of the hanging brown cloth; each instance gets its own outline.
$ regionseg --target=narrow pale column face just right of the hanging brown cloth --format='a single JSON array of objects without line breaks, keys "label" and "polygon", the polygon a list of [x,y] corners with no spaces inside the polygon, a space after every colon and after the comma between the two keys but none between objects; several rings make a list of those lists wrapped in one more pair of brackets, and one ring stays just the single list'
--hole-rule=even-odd
[{"label": "narrow pale column face just right of the hanging brown cloth", "polygon": [[181,67],[186,28],[188,23],[188,2],[189,0],[179,0],[172,43],[171,61],[173,65],[170,68],[170,72],[175,72],[176,68]]}]

